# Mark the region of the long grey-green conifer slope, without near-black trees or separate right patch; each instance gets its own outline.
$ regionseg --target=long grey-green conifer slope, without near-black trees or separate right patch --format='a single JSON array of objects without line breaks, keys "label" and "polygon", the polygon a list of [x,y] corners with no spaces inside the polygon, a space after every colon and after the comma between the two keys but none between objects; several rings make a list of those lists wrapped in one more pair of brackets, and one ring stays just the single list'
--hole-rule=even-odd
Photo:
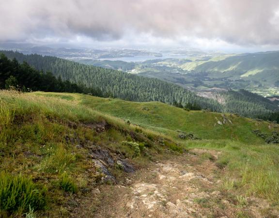
[{"label": "long grey-green conifer slope, without near-black trees or separate right patch", "polygon": [[[119,97],[128,101],[160,101],[172,104],[174,101],[185,105],[196,103],[203,109],[220,111],[221,105],[212,99],[197,96],[178,85],[156,78],[145,78],[121,71],[71,62],[56,57],[23,55],[19,52],[1,51],[8,58],[28,62],[42,72],[52,72],[56,78],[83,84],[90,89],[101,90],[105,97]],[[96,94],[95,94],[96,95]],[[181,106],[179,105],[179,106]]]}]

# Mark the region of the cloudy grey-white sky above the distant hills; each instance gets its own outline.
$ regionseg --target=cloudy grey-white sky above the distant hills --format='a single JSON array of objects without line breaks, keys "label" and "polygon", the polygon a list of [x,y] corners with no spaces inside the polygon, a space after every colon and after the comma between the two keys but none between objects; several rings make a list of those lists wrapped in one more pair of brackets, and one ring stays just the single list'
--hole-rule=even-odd
[{"label": "cloudy grey-white sky above the distant hills", "polygon": [[279,0],[0,0],[0,42],[279,50]]}]

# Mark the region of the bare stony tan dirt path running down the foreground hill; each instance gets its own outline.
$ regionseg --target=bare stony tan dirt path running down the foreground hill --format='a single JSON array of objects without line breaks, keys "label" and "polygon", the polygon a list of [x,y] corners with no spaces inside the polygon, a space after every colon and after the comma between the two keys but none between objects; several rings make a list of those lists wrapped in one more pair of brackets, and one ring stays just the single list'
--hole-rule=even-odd
[{"label": "bare stony tan dirt path running down the foreground hill", "polygon": [[[113,218],[260,218],[269,205],[222,189],[221,172],[206,150],[156,162],[117,186],[100,188],[103,203],[88,217]],[[219,153],[210,151],[218,158]],[[266,212],[265,212],[266,213]],[[277,216],[274,216],[277,217]]]}]

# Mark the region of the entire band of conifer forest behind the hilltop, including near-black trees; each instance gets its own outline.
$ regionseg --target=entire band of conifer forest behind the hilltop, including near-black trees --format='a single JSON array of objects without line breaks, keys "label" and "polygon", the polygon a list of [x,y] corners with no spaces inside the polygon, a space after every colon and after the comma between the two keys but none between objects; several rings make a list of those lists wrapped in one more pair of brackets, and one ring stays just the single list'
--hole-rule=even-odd
[{"label": "entire band of conifer forest behind the hilltop, including near-black trees", "polygon": [[[6,70],[3,70],[4,65],[0,63],[0,88],[5,88],[6,79],[13,76],[21,87],[31,88],[33,91],[92,93],[128,101],[160,101],[185,109],[238,113],[264,120],[278,119],[276,103],[246,90],[221,93],[224,101],[219,103],[157,78],[146,78],[51,56],[0,52],[7,56],[2,55],[1,62],[9,63],[9,69]],[[13,84],[14,81],[9,78],[6,83]]]}]

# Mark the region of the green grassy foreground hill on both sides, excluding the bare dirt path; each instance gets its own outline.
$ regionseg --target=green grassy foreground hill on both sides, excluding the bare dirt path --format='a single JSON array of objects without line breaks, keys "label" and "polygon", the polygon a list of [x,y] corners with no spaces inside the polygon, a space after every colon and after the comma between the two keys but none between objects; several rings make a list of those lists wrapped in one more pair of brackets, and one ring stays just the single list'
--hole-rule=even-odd
[{"label": "green grassy foreground hill on both sides, excluding the bare dirt path", "polygon": [[204,150],[199,161],[218,166],[214,177],[227,196],[259,197],[276,207],[279,146],[254,129],[271,135],[279,127],[160,102],[0,91],[0,199],[10,199],[0,201],[0,216],[75,217],[80,210],[92,216],[115,195],[113,184],[129,187],[131,170],[137,177],[151,168],[146,176],[153,178],[155,161],[187,151],[198,156],[193,148],[220,152],[215,159]]}]

